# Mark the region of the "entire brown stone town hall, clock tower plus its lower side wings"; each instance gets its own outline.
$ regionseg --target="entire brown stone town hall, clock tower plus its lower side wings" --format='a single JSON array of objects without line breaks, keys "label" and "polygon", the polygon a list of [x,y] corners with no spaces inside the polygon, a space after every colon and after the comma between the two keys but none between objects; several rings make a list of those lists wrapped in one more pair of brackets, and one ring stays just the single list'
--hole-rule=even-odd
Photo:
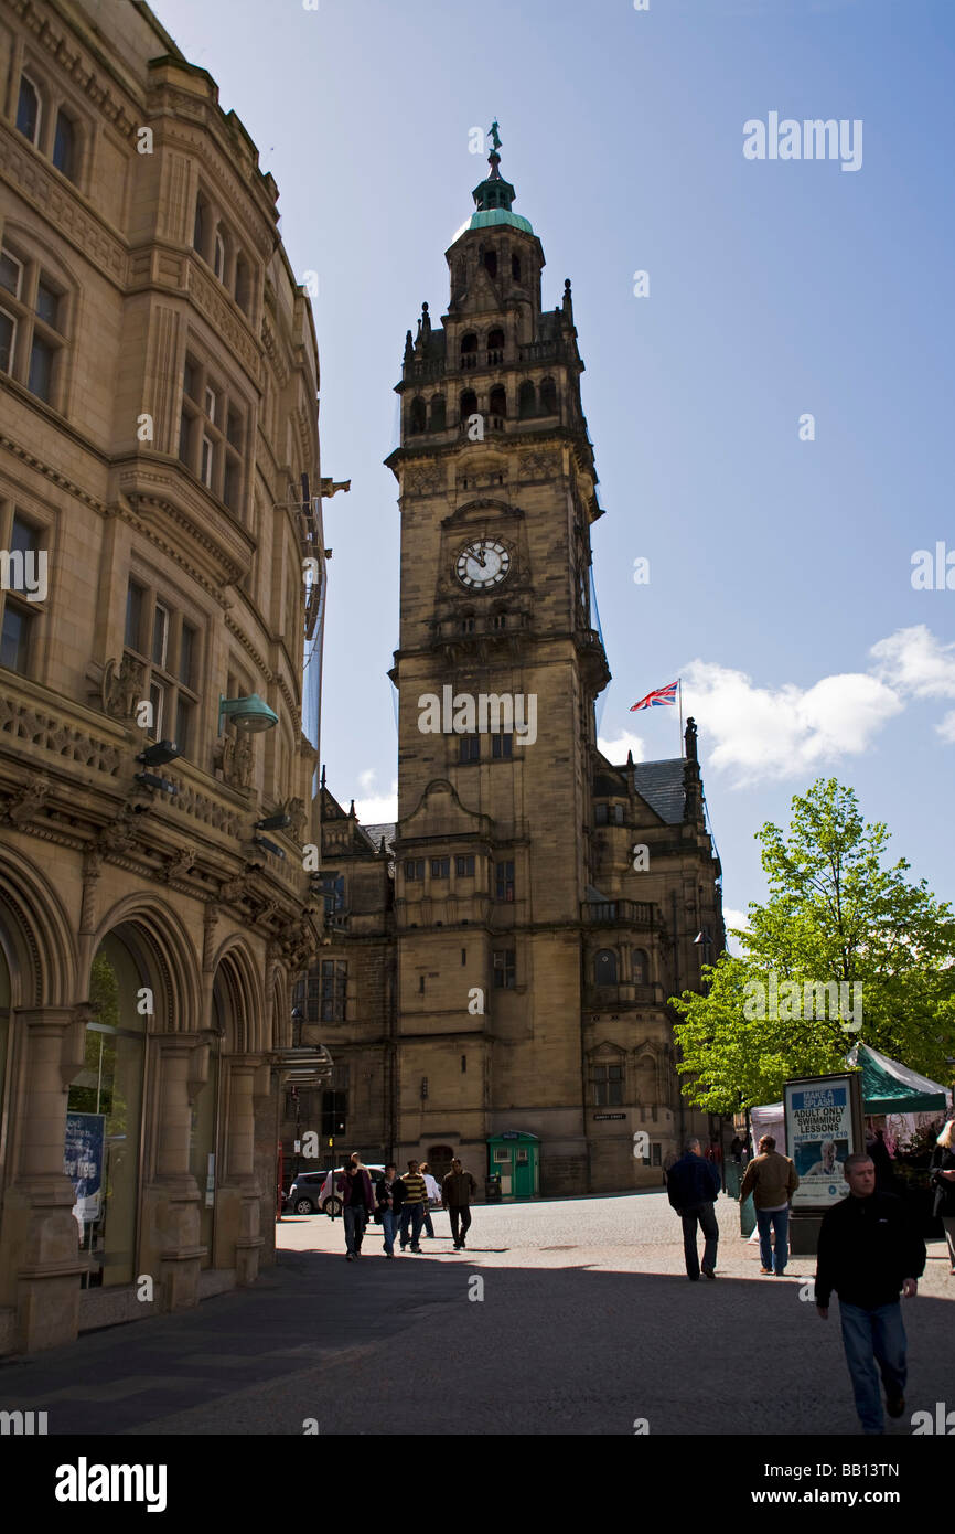
[{"label": "entire brown stone town hall, clock tower plus its lower side wings", "polygon": [[446,252],[448,311],[425,304],[405,342],[399,822],[322,796],[310,1019],[366,1160],[460,1152],[529,1193],[659,1186],[710,1127],[679,1094],[667,997],[722,946],[720,870],[693,724],[673,761],[596,746],[584,364],[497,147]]}]

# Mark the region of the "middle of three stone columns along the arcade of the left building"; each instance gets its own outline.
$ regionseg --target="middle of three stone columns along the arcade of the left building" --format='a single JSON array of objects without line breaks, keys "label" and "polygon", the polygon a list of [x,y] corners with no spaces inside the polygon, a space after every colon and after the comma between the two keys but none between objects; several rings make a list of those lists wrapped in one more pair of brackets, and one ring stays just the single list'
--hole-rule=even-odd
[{"label": "middle of three stone columns along the arcade of the left building", "polygon": [[[202,1193],[189,1166],[192,1104],[208,1080],[208,1043],[198,1034],[153,1034],[155,1169],[144,1193],[141,1259],[158,1278],[161,1310],[187,1310],[199,1299]],[[155,1272],[153,1272],[155,1270]]]}]

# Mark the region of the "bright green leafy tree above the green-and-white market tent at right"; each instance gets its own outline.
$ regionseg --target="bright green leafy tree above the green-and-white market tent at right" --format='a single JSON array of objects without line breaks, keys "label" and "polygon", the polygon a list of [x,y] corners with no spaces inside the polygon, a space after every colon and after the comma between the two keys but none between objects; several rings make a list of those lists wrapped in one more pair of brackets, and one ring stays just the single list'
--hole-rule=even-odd
[{"label": "bright green leafy tree above the green-and-white market tent at right", "polygon": [[[682,1091],[710,1112],[774,1101],[788,1077],[838,1071],[855,1040],[937,1081],[950,1074],[950,905],[924,879],[906,882],[904,858],[888,865],[888,827],[865,824],[855,792],[835,778],[817,779],[791,808],[788,834],[771,822],[756,833],[770,894],[765,905],[750,904],[750,928],[734,931],[742,954],[704,966],[705,996],[671,997],[684,1019],[676,1026]],[[791,1017],[785,999],[782,1016],[757,1016],[753,986],[768,994],[773,976],[780,991],[783,982],[799,986],[803,1000]],[[806,982],[848,986],[840,997],[849,1008],[860,997],[861,1026],[852,1026],[858,1012],[831,1016],[828,1006],[808,1005]]]}]

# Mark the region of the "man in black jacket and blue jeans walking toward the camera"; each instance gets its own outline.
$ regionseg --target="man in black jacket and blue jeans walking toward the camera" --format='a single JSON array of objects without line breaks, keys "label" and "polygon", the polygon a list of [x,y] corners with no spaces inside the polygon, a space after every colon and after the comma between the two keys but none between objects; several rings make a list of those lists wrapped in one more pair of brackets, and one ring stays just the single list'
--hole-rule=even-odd
[{"label": "man in black jacket and blue jeans walking toward the camera", "polygon": [[[906,1330],[898,1292],[911,1299],[926,1266],[926,1244],[907,1206],[875,1189],[875,1166],[865,1150],[843,1163],[849,1197],[823,1215],[816,1266],[816,1309],[825,1321],[832,1290],[838,1295],[842,1339],[866,1434],[883,1431],[878,1374],[886,1411],[906,1410]],[[875,1365],[878,1364],[878,1371]]]}]

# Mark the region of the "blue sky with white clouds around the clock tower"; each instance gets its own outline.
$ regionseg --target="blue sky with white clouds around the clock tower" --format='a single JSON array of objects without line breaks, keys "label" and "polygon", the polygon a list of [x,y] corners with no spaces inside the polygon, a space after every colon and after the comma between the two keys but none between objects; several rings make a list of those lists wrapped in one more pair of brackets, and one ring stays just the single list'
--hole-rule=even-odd
[{"label": "blue sky with white clouds around the clock tower", "polygon": [[[602,749],[678,755],[676,710],[630,704],[682,678],[730,925],[765,894],[756,831],[820,776],[955,897],[952,0],[305,3],[155,11],[317,276],[322,474],[351,479],[325,503],[331,792],[395,815],[382,460],[405,331],[423,299],[445,313],[486,173],[471,130],[497,117],[544,307],[573,282],[605,508]],[[811,153],[814,120],[845,124],[835,158]]]}]

